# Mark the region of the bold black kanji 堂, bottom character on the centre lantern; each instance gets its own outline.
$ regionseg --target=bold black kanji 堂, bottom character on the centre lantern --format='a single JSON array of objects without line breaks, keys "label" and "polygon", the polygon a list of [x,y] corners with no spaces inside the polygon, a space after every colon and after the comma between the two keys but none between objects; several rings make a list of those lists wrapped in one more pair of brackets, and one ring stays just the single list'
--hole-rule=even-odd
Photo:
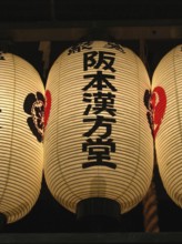
[{"label": "bold black kanji \u5802, bottom character on the centre lantern", "polygon": [[88,139],[87,142],[82,143],[82,151],[89,151],[89,162],[82,164],[83,169],[95,165],[111,169],[117,167],[115,163],[108,162],[108,160],[110,160],[110,152],[115,152],[115,143],[112,139],[108,139],[108,141],[102,141],[102,139],[97,139],[95,141]]}]

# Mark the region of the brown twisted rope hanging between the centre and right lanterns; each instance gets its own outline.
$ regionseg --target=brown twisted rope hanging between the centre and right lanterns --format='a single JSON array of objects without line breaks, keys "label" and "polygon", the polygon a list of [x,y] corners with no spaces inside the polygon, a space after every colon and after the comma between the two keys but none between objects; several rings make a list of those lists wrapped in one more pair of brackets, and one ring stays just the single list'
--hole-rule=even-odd
[{"label": "brown twisted rope hanging between the centre and right lanterns", "polygon": [[[146,67],[146,70],[149,68],[148,65],[148,57],[146,57],[146,49],[144,40],[140,40],[140,58],[143,61],[144,65]],[[149,70],[148,70],[149,72]],[[153,144],[154,146],[154,144]],[[156,169],[156,153],[154,149],[154,171],[153,174],[155,174]],[[160,232],[159,227],[159,216],[158,216],[158,200],[156,200],[156,191],[155,191],[155,181],[154,177],[152,179],[151,185],[146,192],[146,195],[143,199],[143,225],[144,231],[154,233]]]}]

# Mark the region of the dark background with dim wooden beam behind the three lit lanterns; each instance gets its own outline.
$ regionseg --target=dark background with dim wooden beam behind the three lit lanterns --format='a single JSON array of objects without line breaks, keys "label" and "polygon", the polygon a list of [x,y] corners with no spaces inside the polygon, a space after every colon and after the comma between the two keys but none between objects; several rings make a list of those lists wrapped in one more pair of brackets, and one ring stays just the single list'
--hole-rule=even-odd
[{"label": "dark background with dim wooden beam behind the three lit lanterns", "polygon": [[[139,55],[142,51],[150,77],[162,57],[182,43],[180,0],[1,0],[0,11],[1,47],[29,61],[44,84],[59,54],[90,33],[95,38],[112,37]],[[46,61],[40,50],[42,41],[50,41],[50,55]],[[48,68],[44,70],[46,62]],[[181,232],[182,210],[165,193],[158,167],[154,183],[160,231]],[[22,220],[8,224],[3,232],[144,232],[143,203],[120,218],[120,222],[105,218],[78,222],[75,214],[55,202],[43,179],[32,211]]]}]

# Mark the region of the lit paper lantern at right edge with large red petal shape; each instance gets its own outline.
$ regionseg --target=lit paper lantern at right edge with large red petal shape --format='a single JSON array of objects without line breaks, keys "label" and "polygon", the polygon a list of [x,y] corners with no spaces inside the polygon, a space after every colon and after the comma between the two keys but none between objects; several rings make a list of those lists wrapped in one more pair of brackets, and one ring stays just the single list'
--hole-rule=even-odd
[{"label": "lit paper lantern at right edge with large red petal shape", "polygon": [[169,196],[182,207],[182,45],[162,58],[152,90],[159,172]]}]

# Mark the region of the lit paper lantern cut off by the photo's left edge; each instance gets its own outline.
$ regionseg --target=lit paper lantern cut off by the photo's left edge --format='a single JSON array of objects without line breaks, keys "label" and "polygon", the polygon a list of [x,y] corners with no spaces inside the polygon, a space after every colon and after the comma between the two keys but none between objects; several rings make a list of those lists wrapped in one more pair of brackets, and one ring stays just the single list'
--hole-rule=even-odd
[{"label": "lit paper lantern cut off by the photo's left edge", "polygon": [[0,213],[7,222],[34,205],[43,167],[44,88],[22,58],[0,53]]}]

